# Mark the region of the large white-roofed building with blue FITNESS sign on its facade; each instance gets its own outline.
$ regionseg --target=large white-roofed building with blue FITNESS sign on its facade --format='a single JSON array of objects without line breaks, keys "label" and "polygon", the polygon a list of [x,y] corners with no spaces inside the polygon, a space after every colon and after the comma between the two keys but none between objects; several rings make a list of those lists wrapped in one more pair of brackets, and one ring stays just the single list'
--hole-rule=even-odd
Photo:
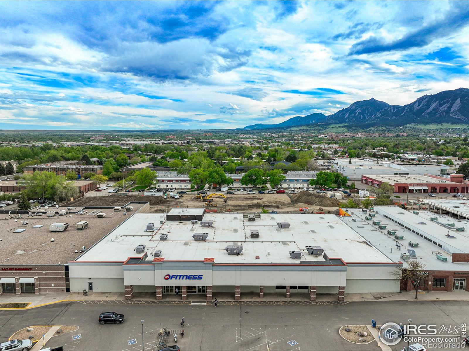
[{"label": "large white-roofed building with blue FITNESS sign on its facade", "polygon": [[[196,213],[197,212],[197,213]],[[184,215],[185,217],[182,217]],[[189,220],[191,216],[202,216]],[[187,220],[186,220],[187,218]],[[173,220],[174,219],[174,220]],[[70,290],[154,292],[398,292],[399,267],[337,216],[218,214],[200,209],[137,213],[68,263]]]}]

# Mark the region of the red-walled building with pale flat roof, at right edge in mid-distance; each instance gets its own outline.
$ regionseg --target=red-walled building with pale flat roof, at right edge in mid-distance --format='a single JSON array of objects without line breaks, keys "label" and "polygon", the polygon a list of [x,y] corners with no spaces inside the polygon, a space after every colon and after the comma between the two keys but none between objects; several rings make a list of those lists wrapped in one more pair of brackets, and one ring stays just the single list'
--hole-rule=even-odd
[{"label": "red-walled building with pale flat roof, at right edge in mid-distance", "polygon": [[467,193],[469,181],[462,174],[453,174],[448,178],[425,174],[423,176],[375,176],[363,175],[362,183],[378,188],[382,183],[389,183],[397,193]]}]

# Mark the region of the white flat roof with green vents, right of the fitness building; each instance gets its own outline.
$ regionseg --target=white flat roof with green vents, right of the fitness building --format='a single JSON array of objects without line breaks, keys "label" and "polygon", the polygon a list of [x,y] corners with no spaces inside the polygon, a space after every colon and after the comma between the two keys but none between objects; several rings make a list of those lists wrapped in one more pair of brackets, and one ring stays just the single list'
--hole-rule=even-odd
[{"label": "white flat roof with green vents, right of the fitness building", "polygon": [[[386,207],[386,210],[389,209],[391,206]],[[395,206],[398,212],[405,212],[402,216],[405,219],[408,219],[410,222],[423,222],[426,219],[423,217],[413,214],[412,212],[408,212],[399,207]],[[433,244],[430,241],[425,240],[424,238],[420,237],[419,235],[412,233],[410,230],[405,229],[399,226],[397,223],[386,219],[380,214],[376,214],[373,220],[381,221],[381,224],[386,224],[386,229],[379,229],[378,225],[373,225],[372,220],[366,220],[365,216],[368,214],[363,213],[361,210],[349,210],[349,213],[352,214],[352,217],[344,217],[344,222],[357,233],[362,235],[366,238],[374,247],[381,250],[387,257],[392,259],[393,261],[401,261],[404,263],[404,267],[406,266],[405,261],[401,258],[401,253],[407,253],[408,249],[414,249],[416,251],[417,259],[422,260],[426,266],[426,269],[429,271],[469,271],[469,263],[453,263],[452,255],[446,252],[444,249],[438,247],[437,245]],[[354,222],[351,219],[355,218],[357,221]],[[402,219],[403,220],[403,219]],[[427,224],[428,225],[428,224]],[[423,227],[424,225],[421,225]],[[443,229],[439,227],[439,230]],[[403,235],[404,238],[401,240],[395,240],[393,235],[388,235],[387,230],[393,230],[398,235]],[[443,237],[446,234],[446,230],[442,233]],[[453,234],[453,233],[451,233]],[[465,237],[464,240],[468,238]],[[452,240],[452,239],[447,239]],[[409,247],[408,242],[418,242],[418,246]],[[396,247],[396,243],[401,245],[401,250]],[[442,262],[436,258],[436,252],[439,251],[443,256],[447,257],[447,262]]]}]

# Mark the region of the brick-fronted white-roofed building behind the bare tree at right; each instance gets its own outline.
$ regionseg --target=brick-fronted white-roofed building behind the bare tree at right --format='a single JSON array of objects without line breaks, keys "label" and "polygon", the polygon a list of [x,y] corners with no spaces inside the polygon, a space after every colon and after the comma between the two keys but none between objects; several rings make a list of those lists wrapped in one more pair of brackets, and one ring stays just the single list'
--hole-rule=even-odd
[{"label": "brick-fronted white-roofed building behind the bare tree at right", "polygon": [[[344,222],[393,261],[424,264],[424,291],[469,291],[469,221],[429,211],[406,211],[398,206],[375,206],[374,217],[352,210]],[[410,291],[410,281],[401,290]]]}]

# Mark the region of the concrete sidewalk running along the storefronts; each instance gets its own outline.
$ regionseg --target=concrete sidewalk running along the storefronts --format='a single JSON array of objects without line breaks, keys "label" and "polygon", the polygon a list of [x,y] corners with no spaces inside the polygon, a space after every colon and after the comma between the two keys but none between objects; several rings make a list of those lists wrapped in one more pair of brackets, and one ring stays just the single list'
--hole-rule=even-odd
[{"label": "concrete sidewalk running along the storefronts", "polygon": [[[234,301],[234,293],[216,293],[213,295],[218,300]],[[155,293],[135,293],[133,300],[155,300]],[[88,296],[83,296],[82,293],[46,293],[37,295],[0,295],[0,303],[18,303],[27,302],[30,305],[26,308],[40,307],[57,302],[66,301],[121,301],[125,300],[124,292],[90,292]],[[309,301],[309,293],[292,293],[290,298],[285,297],[285,293],[265,293],[263,298],[260,298],[257,293],[243,293],[241,295],[242,301]],[[336,294],[318,295],[317,301],[334,301],[337,302],[338,297]],[[349,293],[345,295],[345,302],[357,301],[396,301],[396,300],[415,300],[415,292],[397,292],[397,293]],[[461,300],[469,301],[469,292],[467,291],[434,291],[434,292],[419,292],[418,300]],[[181,295],[164,295],[163,301],[182,301]],[[204,294],[189,294],[187,301],[205,301]],[[25,308],[18,308],[25,309]]]}]

